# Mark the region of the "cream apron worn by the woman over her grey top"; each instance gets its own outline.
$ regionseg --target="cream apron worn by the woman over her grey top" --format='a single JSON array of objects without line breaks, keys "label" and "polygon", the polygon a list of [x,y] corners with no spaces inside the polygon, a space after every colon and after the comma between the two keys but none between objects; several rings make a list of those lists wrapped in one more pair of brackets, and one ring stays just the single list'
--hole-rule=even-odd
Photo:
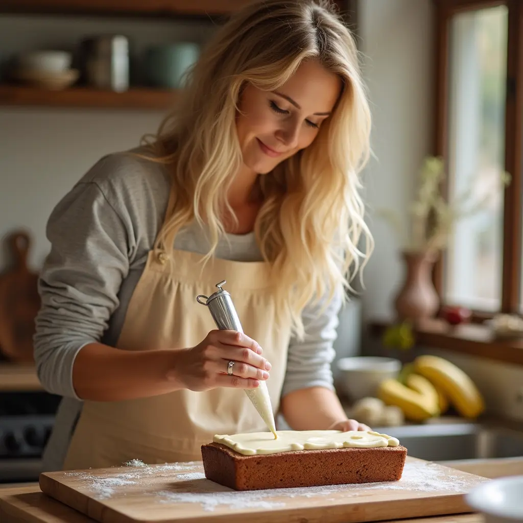
[{"label": "cream apron worn by the woman over her grey top", "polygon": [[[170,243],[172,245],[172,243]],[[166,258],[172,256],[174,271]],[[290,339],[288,321],[276,328],[273,283],[264,262],[211,259],[153,249],[134,290],[117,347],[153,350],[193,347],[216,328],[198,294],[210,295],[227,280],[245,333],[271,362],[267,381],[272,408],[279,407]],[[280,319],[281,320],[281,319]],[[224,361],[224,372],[226,362]],[[266,431],[242,389],[180,390],[138,400],[85,401],[63,465],[64,470],[201,460],[201,445],[215,434]]]}]

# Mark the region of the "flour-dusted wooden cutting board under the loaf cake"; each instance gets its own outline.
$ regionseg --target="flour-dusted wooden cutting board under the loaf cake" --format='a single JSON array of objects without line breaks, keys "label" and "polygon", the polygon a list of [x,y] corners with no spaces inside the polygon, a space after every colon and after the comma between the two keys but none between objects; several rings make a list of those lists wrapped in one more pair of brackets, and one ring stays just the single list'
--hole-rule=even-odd
[{"label": "flour-dusted wooden cutting board under the loaf cake", "polygon": [[349,523],[471,512],[463,494],[484,477],[407,457],[390,483],[235,492],[201,462],[40,475],[42,492],[101,523]]}]

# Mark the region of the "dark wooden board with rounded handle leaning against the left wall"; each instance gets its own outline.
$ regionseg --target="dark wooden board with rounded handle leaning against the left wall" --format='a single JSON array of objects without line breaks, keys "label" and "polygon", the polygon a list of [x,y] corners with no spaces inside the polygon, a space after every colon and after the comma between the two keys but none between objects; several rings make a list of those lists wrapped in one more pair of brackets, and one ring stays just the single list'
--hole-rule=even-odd
[{"label": "dark wooden board with rounded handle leaning against the left wall", "polygon": [[17,231],[7,241],[15,265],[0,276],[0,352],[12,361],[32,361],[40,296],[38,275],[27,266],[31,238]]}]

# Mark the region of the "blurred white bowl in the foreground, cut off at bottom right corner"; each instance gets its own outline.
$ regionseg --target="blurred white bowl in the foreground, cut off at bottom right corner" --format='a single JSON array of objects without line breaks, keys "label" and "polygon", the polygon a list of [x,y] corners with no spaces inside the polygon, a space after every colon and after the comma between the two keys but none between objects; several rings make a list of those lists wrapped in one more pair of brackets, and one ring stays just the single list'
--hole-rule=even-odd
[{"label": "blurred white bowl in the foreground, cut off at bottom right corner", "polygon": [[465,502],[484,515],[485,523],[523,521],[523,476],[482,483],[465,494]]}]

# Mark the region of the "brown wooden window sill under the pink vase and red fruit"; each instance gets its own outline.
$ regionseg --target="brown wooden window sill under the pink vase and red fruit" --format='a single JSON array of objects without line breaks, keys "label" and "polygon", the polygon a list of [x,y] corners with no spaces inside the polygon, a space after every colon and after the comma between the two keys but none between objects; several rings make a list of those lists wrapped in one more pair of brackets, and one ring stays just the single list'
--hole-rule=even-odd
[{"label": "brown wooden window sill under the pink vase and red fruit", "polygon": [[[373,337],[381,337],[391,325],[391,321],[370,322],[369,333]],[[452,326],[443,320],[426,320],[415,327],[414,335],[418,346],[523,365],[523,337],[497,338],[486,325],[469,323]]]}]

